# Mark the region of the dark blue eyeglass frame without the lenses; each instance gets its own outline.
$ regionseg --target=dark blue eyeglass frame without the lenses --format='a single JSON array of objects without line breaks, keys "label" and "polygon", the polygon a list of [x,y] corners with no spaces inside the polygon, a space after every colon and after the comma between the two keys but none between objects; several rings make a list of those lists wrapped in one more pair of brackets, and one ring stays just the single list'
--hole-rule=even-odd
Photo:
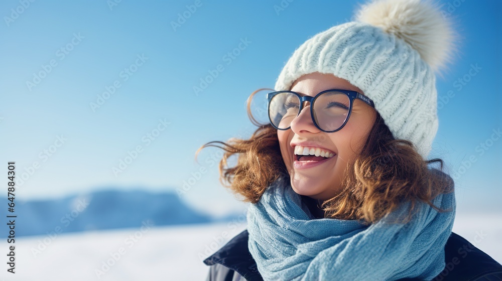
[{"label": "dark blue eyeglass frame without the lenses", "polygon": [[[349,99],[349,108],[348,108],[348,114],[347,114],[347,118],[345,118],[345,121],[343,122],[343,124],[337,128],[336,130],[332,130],[332,131],[326,131],[326,130],[323,130],[319,127],[319,125],[317,124],[317,122],[315,121],[314,119],[314,107],[312,106],[312,104],[315,102],[316,98],[324,93],[327,93],[327,92],[339,92],[339,93],[342,93],[342,94],[345,94],[347,95],[348,99]],[[350,91],[350,90],[339,90],[339,89],[329,89],[329,90],[325,90],[325,91],[322,91],[318,94],[316,94],[315,96],[307,96],[307,95],[300,95],[299,93],[297,92],[293,92],[293,91],[277,91],[277,92],[271,92],[271,93],[268,93],[267,94],[267,115],[269,115],[269,121],[270,121],[270,124],[278,129],[278,130],[289,130],[291,128],[291,125],[286,128],[286,129],[280,129],[278,127],[276,127],[274,125],[274,123],[272,122],[272,119],[270,118],[270,102],[272,100],[272,98],[277,95],[277,94],[280,94],[280,93],[292,93],[292,94],[295,94],[296,96],[298,96],[298,98],[300,99],[300,108],[298,110],[298,114],[295,116],[298,117],[298,115],[300,115],[300,113],[302,112],[302,109],[303,109],[303,104],[305,103],[305,101],[308,101],[310,103],[310,117],[312,118],[312,122],[314,123],[314,125],[320,129],[321,131],[323,132],[335,132],[335,131],[338,131],[338,130],[341,130],[343,128],[343,126],[345,126],[345,124],[347,123],[348,119],[350,118],[350,113],[352,113],[352,105],[354,104],[354,99],[360,99],[362,100],[364,103],[366,103],[367,105],[371,106],[371,107],[375,107],[374,105],[374,102],[368,98],[367,96],[365,95],[362,95],[361,93],[359,92],[356,92],[356,91]]]}]

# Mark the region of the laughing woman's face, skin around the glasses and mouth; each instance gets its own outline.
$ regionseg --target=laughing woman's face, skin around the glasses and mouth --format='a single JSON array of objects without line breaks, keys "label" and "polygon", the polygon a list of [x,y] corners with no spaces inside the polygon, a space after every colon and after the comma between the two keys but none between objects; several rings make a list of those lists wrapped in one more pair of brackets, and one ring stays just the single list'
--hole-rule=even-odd
[{"label": "laughing woman's face, skin around the glasses and mouth", "polygon": [[[293,83],[291,91],[315,96],[328,89],[358,91],[348,81],[332,74],[311,73]],[[363,93],[362,93],[363,94]],[[291,177],[293,190],[314,199],[328,200],[341,191],[347,163],[352,163],[364,145],[375,121],[376,111],[359,99],[354,100],[352,113],[345,126],[336,132],[323,132],[313,123],[310,103],[306,102],[300,115],[288,130],[277,130],[281,154]],[[295,147],[319,148],[333,154],[324,161],[298,161]],[[301,160],[301,159],[300,159]]]}]

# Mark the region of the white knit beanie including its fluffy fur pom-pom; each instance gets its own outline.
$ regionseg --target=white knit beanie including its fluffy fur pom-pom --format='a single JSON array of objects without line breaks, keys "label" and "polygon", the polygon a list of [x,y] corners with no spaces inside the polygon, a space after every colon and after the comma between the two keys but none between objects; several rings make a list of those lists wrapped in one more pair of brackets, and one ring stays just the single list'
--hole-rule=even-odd
[{"label": "white knit beanie including its fluffy fur pom-pom", "polygon": [[455,34],[430,1],[376,0],[356,22],[334,26],[303,43],[275,90],[319,72],[349,81],[371,98],[393,136],[426,159],[438,129],[434,72],[451,58]]}]

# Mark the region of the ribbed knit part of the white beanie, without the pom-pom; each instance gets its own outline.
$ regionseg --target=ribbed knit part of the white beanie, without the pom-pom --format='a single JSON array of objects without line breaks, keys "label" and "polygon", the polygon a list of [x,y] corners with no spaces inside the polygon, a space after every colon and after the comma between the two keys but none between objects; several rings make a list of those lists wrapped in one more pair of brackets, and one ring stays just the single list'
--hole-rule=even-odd
[{"label": "ribbed knit part of the white beanie, without the pom-pom", "polygon": [[365,23],[332,27],[294,52],[275,89],[290,90],[295,80],[314,72],[360,88],[394,137],[412,142],[427,157],[438,129],[435,75],[408,43]]}]

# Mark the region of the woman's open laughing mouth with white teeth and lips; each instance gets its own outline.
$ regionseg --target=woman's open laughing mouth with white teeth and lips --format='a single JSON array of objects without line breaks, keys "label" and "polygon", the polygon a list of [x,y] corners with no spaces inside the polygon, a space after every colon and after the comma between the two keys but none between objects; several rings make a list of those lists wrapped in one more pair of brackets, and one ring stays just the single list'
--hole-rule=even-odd
[{"label": "woman's open laughing mouth with white teeth and lips", "polygon": [[295,146],[293,165],[296,169],[312,168],[336,156],[335,153],[316,147]]}]

